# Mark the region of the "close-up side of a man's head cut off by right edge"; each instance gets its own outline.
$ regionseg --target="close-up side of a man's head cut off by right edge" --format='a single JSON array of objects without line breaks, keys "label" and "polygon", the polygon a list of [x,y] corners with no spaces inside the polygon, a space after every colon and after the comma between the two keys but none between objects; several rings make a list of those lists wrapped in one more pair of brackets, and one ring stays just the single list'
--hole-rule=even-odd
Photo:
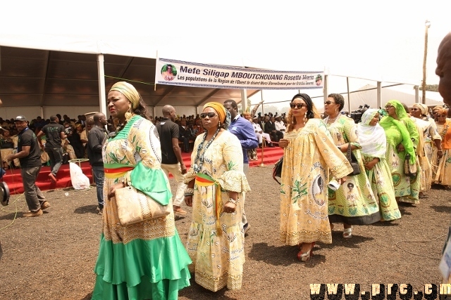
[{"label": "close-up side of a man's head cut off by right edge", "polygon": [[443,102],[451,105],[451,32],[438,46],[437,68],[435,74],[440,77],[438,92],[443,97]]}]

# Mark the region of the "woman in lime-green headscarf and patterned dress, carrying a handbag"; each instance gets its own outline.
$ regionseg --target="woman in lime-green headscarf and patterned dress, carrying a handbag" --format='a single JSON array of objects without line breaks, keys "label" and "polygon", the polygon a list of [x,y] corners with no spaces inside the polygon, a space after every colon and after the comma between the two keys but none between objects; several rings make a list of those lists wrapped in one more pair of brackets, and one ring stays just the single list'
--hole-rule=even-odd
[{"label": "woman in lime-green headscarf and patterned dress, carrying a handbag", "polygon": [[395,196],[398,202],[419,203],[421,172],[412,177],[404,173],[407,155],[410,157],[409,164],[416,164],[417,170],[420,170],[415,150],[420,138],[418,130],[400,101],[388,101],[385,111],[387,116],[381,119],[380,124],[387,136],[385,159],[392,174]]}]

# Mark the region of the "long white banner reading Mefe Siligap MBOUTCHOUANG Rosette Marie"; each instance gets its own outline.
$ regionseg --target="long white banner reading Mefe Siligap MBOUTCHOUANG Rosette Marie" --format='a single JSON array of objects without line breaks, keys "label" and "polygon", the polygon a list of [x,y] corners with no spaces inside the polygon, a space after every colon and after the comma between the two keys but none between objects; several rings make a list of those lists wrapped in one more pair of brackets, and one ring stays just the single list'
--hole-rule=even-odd
[{"label": "long white banner reading Mefe Siligap MBOUTCHOUANG Rosette Marie", "polygon": [[214,89],[322,89],[324,72],[275,71],[158,58],[155,82]]}]

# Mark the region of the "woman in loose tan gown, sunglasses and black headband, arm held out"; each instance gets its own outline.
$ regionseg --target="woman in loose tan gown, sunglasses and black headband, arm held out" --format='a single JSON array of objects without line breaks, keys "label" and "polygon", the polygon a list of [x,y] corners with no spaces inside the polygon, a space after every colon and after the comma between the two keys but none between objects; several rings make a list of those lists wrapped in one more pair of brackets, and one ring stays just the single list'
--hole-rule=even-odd
[{"label": "woman in loose tan gown, sunglasses and black headband, arm held out", "polygon": [[308,261],[315,242],[332,243],[328,220],[329,174],[346,181],[352,167],[338,150],[311,98],[295,95],[288,112],[280,185],[280,240],[299,245],[297,259]]}]

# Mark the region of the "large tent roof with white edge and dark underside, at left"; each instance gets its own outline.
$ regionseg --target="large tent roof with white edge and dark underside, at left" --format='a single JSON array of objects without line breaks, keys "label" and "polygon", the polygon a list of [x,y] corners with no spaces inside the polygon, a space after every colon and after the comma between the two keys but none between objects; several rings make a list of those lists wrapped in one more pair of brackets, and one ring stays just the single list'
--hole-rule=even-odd
[{"label": "large tent roof with white edge and dark underside, at left", "polygon": [[[154,90],[156,51],[149,44],[136,47],[106,44],[101,40],[46,36],[25,39],[0,34],[0,99],[11,107],[99,107],[97,54],[104,54],[106,91],[128,79],[152,107],[166,104],[197,107],[209,101],[241,101],[238,89],[199,89],[157,85]],[[152,54],[151,54],[152,53]],[[248,90],[252,96],[257,90]],[[10,107],[9,110],[7,108]],[[159,115],[159,112],[157,112]],[[4,116],[12,117],[12,116]],[[45,116],[48,117],[48,116]]]}]

